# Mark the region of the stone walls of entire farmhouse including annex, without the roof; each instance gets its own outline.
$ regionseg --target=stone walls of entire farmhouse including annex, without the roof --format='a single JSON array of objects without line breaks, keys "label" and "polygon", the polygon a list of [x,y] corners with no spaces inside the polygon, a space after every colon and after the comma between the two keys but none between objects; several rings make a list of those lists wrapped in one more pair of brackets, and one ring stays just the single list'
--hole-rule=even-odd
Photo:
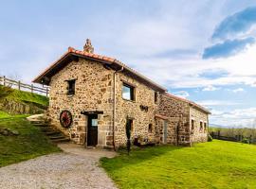
[{"label": "stone walls of entire farmhouse including annex, without the roof", "polygon": [[[67,80],[71,79],[76,82],[75,94],[70,95]],[[133,86],[133,100],[123,98],[124,84]],[[48,85],[47,117],[53,127],[77,144],[87,146],[88,116],[82,112],[101,112],[98,114],[99,147],[125,146],[127,119],[133,120],[132,141],[140,138],[146,143],[184,146],[207,141],[209,112],[192,106],[188,100],[159,92],[137,77],[110,69],[98,60],[82,57],[70,60],[50,77]],[[73,117],[68,129],[60,124],[63,111],[71,112]]]}]

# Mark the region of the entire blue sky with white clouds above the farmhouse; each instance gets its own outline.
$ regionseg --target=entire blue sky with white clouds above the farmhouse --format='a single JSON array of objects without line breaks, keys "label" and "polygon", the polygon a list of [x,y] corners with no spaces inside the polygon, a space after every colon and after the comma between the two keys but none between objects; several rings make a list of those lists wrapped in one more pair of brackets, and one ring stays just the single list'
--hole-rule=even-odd
[{"label": "entire blue sky with white clouds above the farmhouse", "polygon": [[117,58],[212,112],[256,119],[255,1],[2,1],[0,75],[30,82],[68,46]]}]

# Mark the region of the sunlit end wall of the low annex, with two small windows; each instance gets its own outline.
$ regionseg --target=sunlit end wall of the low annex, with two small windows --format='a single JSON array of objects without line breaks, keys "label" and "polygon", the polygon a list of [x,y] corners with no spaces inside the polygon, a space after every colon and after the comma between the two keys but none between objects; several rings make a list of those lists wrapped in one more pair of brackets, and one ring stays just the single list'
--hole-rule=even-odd
[{"label": "sunlit end wall of the low annex, with two small windows", "polygon": [[[191,141],[192,143],[207,142],[208,139],[208,114],[199,111],[196,108],[190,108],[190,130],[191,130]],[[194,127],[192,129],[192,120],[194,122]],[[200,128],[200,122],[202,122],[203,127]]]}]

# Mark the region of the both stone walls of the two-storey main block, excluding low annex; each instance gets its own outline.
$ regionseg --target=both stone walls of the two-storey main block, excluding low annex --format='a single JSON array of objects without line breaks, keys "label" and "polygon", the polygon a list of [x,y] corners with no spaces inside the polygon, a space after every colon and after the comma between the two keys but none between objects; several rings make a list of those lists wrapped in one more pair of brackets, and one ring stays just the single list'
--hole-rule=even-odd
[{"label": "both stone walls of the two-storey main block, excluding low annex", "polygon": [[[101,63],[82,60],[72,61],[51,78],[48,117],[53,126],[64,131],[71,140],[86,145],[87,117],[82,111],[102,111],[98,116],[98,146],[113,146],[113,81],[114,71],[105,69]],[[76,92],[68,96],[67,82],[76,80]],[[135,86],[135,101],[122,98],[123,82]],[[127,117],[133,119],[132,140],[141,137],[155,140],[155,91],[125,73],[118,73],[116,78],[116,128],[115,144],[126,144],[125,125]],[[140,105],[147,106],[142,111]],[[68,110],[73,115],[70,129],[60,125],[60,113]],[[152,132],[149,132],[152,124]]]}]

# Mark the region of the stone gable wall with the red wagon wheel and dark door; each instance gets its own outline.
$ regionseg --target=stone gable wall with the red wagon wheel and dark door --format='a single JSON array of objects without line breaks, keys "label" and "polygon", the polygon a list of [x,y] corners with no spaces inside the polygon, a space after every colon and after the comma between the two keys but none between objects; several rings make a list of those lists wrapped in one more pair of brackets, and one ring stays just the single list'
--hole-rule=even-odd
[{"label": "stone gable wall with the red wagon wheel and dark door", "polygon": [[[105,69],[101,63],[79,59],[72,61],[51,78],[50,98],[47,115],[52,125],[64,131],[71,140],[86,145],[87,117],[83,111],[102,111],[98,117],[98,145],[107,146],[106,138],[112,126],[112,89],[113,72]],[[66,80],[76,80],[74,95],[67,95]],[[60,113],[68,110],[73,115],[70,129],[60,125]]]}]

